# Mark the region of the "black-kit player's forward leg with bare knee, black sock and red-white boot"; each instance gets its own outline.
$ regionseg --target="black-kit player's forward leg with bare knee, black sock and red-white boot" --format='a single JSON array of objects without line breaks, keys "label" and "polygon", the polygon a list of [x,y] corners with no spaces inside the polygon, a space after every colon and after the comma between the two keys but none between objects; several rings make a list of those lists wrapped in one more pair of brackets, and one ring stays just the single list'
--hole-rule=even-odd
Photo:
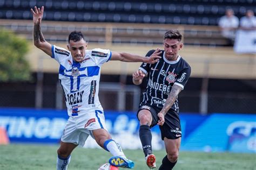
[{"label": "black-kit player's forward leg with bare knee, black sock and red-white boot", "polygon": [[[145,107],[145,106],[144,106]],[[151,108],[152,110],[152,108]],[[153,110],[152,110],[153,111]],[[149,168],[156,168],[156,157],[152,154],[152,133],[150,126],[152,124],[152,114],[147,109],[139,110],[139,138],[142,143],[143,152],[145,154],[146,164]]]}]

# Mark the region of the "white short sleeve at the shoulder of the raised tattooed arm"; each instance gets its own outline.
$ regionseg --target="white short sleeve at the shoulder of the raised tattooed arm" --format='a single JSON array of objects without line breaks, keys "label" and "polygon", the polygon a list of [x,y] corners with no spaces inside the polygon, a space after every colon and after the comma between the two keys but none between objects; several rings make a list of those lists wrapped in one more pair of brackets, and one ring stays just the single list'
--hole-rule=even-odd
[{"label": "white short sleeve at the shoulder of the raised tattooed arm", "polygon": [[51,58],[55,59],[58,63],[60,63],[62,60],[70,55],[70,52],[68,50],[55,45],[51,46],[51,53]]}]

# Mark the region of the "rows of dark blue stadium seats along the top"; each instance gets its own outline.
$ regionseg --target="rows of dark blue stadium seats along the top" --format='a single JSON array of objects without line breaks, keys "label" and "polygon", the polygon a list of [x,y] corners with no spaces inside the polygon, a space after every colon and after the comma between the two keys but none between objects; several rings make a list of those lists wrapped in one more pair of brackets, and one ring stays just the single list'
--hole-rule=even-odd
[{"label": "rows of dark blue stadium seats along the top", "polygon": [[183,1],[1,1],[0,18],[29,19],[28,8],[45,6],[45,20],[70,22],[118,22],[217,25],[219,17],[232,8],[239,18],[247,9],[256,13],[254,0]]}]

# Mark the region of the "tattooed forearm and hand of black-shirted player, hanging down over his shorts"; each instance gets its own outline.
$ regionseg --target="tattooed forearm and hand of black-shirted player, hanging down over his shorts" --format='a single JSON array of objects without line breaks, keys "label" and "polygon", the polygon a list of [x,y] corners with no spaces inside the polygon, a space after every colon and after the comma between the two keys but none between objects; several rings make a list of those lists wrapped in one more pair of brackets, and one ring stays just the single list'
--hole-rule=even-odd
[{"label": "tattooed forearm and hand of black-shirted player, hanging down over his shorts", "polygon": [[163,125],[165,122],[164,116],[166,112],[172,107],[173,103],[175,102],[176,98],[178,97],[182,88],[176,84],[173,84],[171,92],[166,99],[163,109],[157,114],[159,117],[158,125]]}]

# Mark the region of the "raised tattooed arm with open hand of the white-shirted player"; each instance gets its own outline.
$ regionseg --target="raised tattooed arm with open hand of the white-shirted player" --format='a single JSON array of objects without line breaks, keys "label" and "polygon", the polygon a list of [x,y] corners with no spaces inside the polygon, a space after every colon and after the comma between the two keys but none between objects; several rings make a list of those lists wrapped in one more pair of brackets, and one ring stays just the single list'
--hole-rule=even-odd
[{"label": "raised tattooed arm with open hand of the white-shirted player", "polygon": [[34,39],[34,45],[42,49],[46,54],[52,55],[51,53],[51,44],[47,42],[44,39],[43,33],[41,31],[41,23],[43,19],[44,14],[44,6],[42,8],[37,8],[35,6],[35,11],[31,9],[32,15],[33,15],[33,23],[34,23],[34,29],[33,29],[33,39]]}]

